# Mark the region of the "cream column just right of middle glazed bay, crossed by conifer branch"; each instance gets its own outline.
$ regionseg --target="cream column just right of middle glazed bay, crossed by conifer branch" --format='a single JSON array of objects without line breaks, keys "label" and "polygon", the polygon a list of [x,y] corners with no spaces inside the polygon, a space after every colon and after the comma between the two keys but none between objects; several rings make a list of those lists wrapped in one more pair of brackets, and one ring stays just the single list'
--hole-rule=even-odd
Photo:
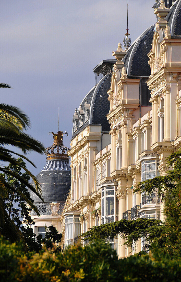
[{"label": "cream column just right of middle glazed bay, crossed by conifer branch", "polygon": [[[116,195],[119,200],[119,220],[123,218],[123,212],[126,208],[126,190],[116,191]],[[124,258],[126,256],[126,248],[123,245],[124,239],[121,238],[121,235],[118,236],[118,257]]]}]

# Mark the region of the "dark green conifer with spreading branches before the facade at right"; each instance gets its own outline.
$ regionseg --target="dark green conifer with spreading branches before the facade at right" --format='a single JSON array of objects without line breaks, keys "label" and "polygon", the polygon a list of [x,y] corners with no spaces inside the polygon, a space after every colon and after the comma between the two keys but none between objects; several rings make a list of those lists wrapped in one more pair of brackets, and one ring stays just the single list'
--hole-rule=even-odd
[{"label": "dark green conifer with spreading branches before the facade at right", "polygon": [[164,223],[153,219],[122,219],[93,227],[81,237],[93,242],[97,238],[112,240],[120,234],[131,248],[133,242],[145,237],[150,248],[157,242],[165,253],[181,255],[181,149],[168,157],[167,166],[170,168],[168,175],[140,182],[135,190],[148,194],[157,190],[164,204]]}]

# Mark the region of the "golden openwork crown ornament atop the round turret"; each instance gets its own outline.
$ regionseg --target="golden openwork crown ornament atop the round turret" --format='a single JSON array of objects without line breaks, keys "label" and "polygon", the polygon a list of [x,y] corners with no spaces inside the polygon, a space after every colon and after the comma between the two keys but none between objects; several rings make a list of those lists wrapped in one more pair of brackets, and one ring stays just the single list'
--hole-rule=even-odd
[{"label": "golden openwork crown ornament atop the round turret", "polygon": [[[47,155],[47,161],[58,159],[67,160],[67,151],[69,150],[69,148],[63,145],[63,135],[67,134],[68,136],[67,131],[65,131],[64,133],[63,131],[58,131],[57,133],[49,132],[49,135],[50,133],[52,133],[53,135],[53,145],[45,150],[45,155]],[[51,150],[51,152],[49,152],[49,150]]]}]

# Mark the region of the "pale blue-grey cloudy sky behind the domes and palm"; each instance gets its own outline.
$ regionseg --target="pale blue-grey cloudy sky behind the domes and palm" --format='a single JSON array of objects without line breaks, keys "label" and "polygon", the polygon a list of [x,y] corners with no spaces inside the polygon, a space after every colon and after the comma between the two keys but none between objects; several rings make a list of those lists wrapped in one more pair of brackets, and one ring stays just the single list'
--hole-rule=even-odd
[{"label": "pale blue-grey cloudy sky behind the domes and palm", "polygon": [[[129,0],[128,28],[132,42],[156,22],[154,0]],[[1,0],[1,103],[28,114],[28,134],[45,147],[53,143],[50,131],[67,131],[70,147],[72,116],[95,85],[93,69],[111,59],[127,26],[127,0]],[[45,155],[28,157],[38,174]]]}]

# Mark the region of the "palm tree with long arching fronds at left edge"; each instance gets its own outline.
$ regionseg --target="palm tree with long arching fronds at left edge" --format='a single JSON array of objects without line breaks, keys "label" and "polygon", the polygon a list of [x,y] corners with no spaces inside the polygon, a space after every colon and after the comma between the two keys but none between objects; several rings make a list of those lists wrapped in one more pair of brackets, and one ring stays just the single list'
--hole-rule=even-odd
[{"label": "palm tree with long arching fronds at left edge", "polygon": [[[12,88],[10,87],[10,85],[7,85],[5,83],[0,83],[0,87]],[[15,153],[14,151],[6,147],[9,147],[9,145],[11,145],[13,147],[19,148],[25,155],[31,151],[42,154],[44,151],[43,144],[23,132],[23,130],[27,130],[29,126],[29,118],[24,112],[22,112],[17,107],[0,103],[0,171],[2,173],[9,174],[15,179],[19,180],[30,190],[32,190],[36,195],[38,195],[40,199],[42,199],[40,184],[36,180],[36,177],[27,168],[21,166],[19,162],[17,162],[15,155],[24,158],[35,167],[33,162],[31,162],[26,156],[21,155],[20,153]],[[24,169],[35,182],[35,188],[33,188],[33,186],[31,186],[31,184],[23,177],[14,174],[11,171],[8,171],[2,165],[2,162],[10,162],[15,166],[20,166],[22,169]],[[23,240],[23,236],[6,212],[3,206],[3,201],[1,201],[1,199],[6,199],[9,194],[14,192],[14,190],[14,187],[10,186],[3,177],[0,177],[0,235],[8,237],[12,242],[17,240],[19,241],[20,239]],[[17,189],[16,193],[23,197],[24,201],[26,201],[39,215],[36,206],[31,201],[29,201],[29,199],[25,195],[23,195]]]}]

